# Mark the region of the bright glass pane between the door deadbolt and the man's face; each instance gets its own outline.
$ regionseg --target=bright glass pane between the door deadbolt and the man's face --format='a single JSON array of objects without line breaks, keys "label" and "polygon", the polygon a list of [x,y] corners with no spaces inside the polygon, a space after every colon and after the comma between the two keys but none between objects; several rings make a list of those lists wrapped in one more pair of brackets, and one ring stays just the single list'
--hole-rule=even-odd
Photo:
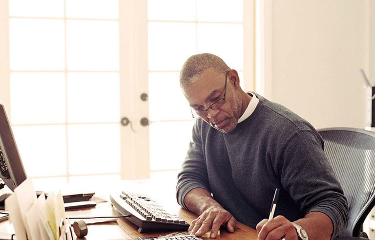
[{"label": "bright glass pane between the door deadbolt and the man's face", "polygon": [[155,120],[191,120],[187,102],[179,81],[179,73],[149,73],[149,117]]}]

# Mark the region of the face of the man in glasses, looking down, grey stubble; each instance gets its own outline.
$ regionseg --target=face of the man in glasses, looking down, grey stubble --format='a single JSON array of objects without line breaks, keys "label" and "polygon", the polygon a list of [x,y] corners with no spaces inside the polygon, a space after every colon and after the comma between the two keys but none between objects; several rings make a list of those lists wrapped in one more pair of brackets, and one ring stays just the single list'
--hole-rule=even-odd
[{"label": "face of the man in glasses, looking down, grey stubble", "polygon": [[[234,87],[233,72],[229,71],[225,103],[218,109],[203,111],[200,117],[212,127],[228,133],[237,126],[241,114],[242,101],[238,88]],[[193,84],[183,89],[184,94],[194,110],[207,109],[215,101],[224,98],[226,76],[212,69],[206,70]],[[238,85],[238,82],[237,82]]]}]

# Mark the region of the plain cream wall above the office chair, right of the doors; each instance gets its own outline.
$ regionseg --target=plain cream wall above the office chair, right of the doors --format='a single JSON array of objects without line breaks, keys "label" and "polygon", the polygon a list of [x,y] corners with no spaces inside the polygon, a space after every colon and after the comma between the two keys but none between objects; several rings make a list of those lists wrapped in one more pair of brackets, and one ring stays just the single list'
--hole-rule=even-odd
[{"label": "plain cream wall above the office chair, right of the doors", "polygon": [[369,6],[368,0],[271,0],[271,51],[265,56],[271,60],[266,84],[271,89],[266,97],[316,128],[363,128],[365,90],[359,69],[369,74]]}]

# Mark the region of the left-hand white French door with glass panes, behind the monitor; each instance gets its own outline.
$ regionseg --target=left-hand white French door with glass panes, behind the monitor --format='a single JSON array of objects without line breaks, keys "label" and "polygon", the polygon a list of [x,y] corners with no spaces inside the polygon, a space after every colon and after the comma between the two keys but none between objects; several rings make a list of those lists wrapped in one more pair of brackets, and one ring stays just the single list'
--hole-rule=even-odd
[{"label": "left-hand white French door with glass panes, behind the monitor", "polygon": [[43,189],[148,177],[146,1],[9,0],[0,9],[0,100],[27,175]]}]

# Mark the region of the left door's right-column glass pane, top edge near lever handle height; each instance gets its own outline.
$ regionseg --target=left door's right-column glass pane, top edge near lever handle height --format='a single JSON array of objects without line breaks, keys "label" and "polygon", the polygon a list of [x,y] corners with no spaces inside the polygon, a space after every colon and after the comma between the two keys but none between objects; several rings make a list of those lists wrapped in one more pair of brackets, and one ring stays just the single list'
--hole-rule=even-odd
[{"label": "left door's right-column glass pane, top edge near lever handle height", "polygon": [[120,124],[68,126],[69,173],[120,172]]}]

